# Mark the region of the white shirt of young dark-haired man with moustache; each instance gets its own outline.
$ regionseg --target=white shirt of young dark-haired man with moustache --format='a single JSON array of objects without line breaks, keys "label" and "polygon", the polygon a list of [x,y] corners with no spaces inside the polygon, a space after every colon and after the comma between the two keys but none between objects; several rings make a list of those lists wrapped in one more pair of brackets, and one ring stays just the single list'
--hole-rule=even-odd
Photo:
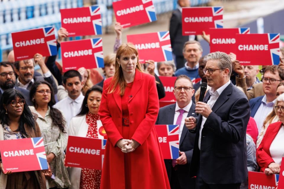
[{"label": "white shirt of young dark-haired man with moustache", "polygon": [[84,100],[84,96],[81,93],[78,98],[73,100],[69,96],[57,102],[53,107],[61,110],[64,113],[64,117],[67,122],[67,128],[70,125],[71,118],[75,117],[80,111]]}]

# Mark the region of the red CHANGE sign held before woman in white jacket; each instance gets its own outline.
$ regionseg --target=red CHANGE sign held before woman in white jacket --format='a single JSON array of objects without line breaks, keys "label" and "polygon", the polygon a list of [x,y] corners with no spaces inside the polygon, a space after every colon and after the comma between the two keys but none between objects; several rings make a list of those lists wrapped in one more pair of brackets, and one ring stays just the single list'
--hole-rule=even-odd
[{"label": "red CHANGE sign held before woman in white jacket", "polygon": [[101,170],[106,139],[69,136],[65,166]]}]

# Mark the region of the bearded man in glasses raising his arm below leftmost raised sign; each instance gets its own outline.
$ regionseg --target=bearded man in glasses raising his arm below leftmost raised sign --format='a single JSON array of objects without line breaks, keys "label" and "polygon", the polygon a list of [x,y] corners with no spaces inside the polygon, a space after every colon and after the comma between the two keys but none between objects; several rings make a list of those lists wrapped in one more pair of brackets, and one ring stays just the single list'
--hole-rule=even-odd
[{"label": "bearded man in glasses raising his arm below leftmost raised sign", "polygon": [[14,66],[18,78],[16,79],[15,86],[20,87],[22,89],[30,90],[34,82],[45,80],[51,84],[54,89],[54,93],[56,94],[56,82],[51,72],[46,67],[42,55],[38,53],[35,54],[34,61],[40,66],[43,76],[35,76],[35,65],[33,59],[16,61],[14,62]]}]

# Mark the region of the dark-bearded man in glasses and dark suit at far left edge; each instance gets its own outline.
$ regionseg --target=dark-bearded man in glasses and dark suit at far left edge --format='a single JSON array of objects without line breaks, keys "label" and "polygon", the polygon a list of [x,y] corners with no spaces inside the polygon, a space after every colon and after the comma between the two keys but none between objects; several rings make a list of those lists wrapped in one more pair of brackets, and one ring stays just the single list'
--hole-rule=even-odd
[{"label": "dark-bearded man in glasses and dark suit at far left edge", "polygon": [[13,64],[9,62],[0,62],[0,98],[5,90],[14,88],[22,92],[28,105],[32,105],[29,97],[30,92],[28,90],[15,87],[15,82],[16,76]]}]

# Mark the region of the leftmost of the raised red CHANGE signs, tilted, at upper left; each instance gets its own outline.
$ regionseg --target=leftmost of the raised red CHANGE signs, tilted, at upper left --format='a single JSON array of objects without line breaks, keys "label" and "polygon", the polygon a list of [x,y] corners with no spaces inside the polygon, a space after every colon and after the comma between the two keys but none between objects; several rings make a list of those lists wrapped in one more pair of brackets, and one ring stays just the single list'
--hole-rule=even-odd
[{"label": "leftmost of the raised red CHANGE signs, tilted, at upper left", "polygon": [[12,33],[15,61],[42,56],[57,55],[54,27],[44,27]]}]

